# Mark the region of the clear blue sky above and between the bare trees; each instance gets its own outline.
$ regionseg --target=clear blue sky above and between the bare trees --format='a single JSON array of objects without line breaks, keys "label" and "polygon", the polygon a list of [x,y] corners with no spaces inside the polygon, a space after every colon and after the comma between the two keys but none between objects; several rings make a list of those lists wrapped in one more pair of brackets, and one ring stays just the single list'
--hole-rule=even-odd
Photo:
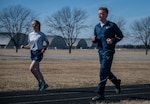
[{"label": "clear blue sky above and between the bare trees", "polygon": [[[90,25],[90,29],[83,30],[79,38],[90,38],[93,35],[94,26],[99,22],[97,11],[99,7],[109,9],[109,20],[111,17],[122,18],[126,21],[125,28],[130,30],[130,25],[135,20],[140,20],[150,16],[150,0],[0,0],[0,11],[9,6],[21,5],[39,14],[39,21],[42,24],[41,31],[49,35],[46,26],[46,18],[69,6],[81,8],[87,12],[88,19],[85,24]],[[133,40],[126,37],[122,44],[132,44]]]}]

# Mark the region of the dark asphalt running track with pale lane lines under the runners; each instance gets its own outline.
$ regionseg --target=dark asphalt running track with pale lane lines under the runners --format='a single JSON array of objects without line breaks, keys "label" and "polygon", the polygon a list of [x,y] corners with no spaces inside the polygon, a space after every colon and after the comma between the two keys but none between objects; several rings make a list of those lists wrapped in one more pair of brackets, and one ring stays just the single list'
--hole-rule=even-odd
[{"label": "dark asphalt running track with pale lane lines under the runners", "polygon": [[[122,86],[116,94],[113,86],[106,86],[106,103],[121,100],[150,100],[150,84]],[[96,95],[96,87],[52,89],[44,92],[15,91],[0,92],[0,104],[94,104],[91,97]]]}]

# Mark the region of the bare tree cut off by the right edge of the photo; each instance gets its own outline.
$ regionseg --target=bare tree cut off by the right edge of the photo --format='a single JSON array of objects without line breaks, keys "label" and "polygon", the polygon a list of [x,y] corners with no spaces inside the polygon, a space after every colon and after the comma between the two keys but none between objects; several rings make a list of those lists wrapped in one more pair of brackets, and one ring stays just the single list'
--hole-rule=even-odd
[{"label": "bare tree cut off by the right edge of the photo", "polygon": [[132,34],[136,41],[142,41],[146,48],[146,55],[150,47],[150,16],[135,21],[131,25]]}]

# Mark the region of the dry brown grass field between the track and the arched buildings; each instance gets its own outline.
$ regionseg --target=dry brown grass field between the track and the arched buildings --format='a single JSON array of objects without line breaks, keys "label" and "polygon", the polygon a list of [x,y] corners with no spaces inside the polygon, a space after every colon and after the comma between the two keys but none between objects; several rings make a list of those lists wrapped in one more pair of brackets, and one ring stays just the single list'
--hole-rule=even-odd
[{"label": "dry brown grass field between the track and the arched buildings", "polygon": [[[15,53],[14,49],[0,49],[0,91],[36,89],[37,81],[28,70],[30,62],[29,50]],[[47,50],[41,71],[50,89],[97,86],[97,50],[72,50],[72,54],[68,54],[68,50]],[[116,50],[112,72],[123,85],[150,83],[150,55],[146,56],[142,50]],[[110,81],[109,85],[112,85]],[[121,104],[129,104],[126,102]]]}]

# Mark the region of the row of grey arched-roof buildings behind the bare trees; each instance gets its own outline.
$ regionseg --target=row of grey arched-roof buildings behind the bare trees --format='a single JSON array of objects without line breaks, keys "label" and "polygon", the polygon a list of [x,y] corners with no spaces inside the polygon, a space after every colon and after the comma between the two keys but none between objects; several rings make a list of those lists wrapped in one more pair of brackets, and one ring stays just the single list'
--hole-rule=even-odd
[{"label": "row of grey arched-roof buildings behind the bare trees", "polygon": [[[65,41],[65,39],[61,36],[57,35],[47,35],[47,38],[49,40],[49,49],[67,49],[68,45]],[[0,33],[0,48],[15,48],[15,43],[13,42],[13,39],[17,41],[18,46],[24,44],[27,44],[28,37],[25,34],[17,34],[14,35],[14,37],[10,38],[8,36],[8,33]],[[96,44],[94,44],[90,38],[77,38],[76,42],[73,44],[73,48],[76,49],[89,49],[89,48],[95,48]]]}]

